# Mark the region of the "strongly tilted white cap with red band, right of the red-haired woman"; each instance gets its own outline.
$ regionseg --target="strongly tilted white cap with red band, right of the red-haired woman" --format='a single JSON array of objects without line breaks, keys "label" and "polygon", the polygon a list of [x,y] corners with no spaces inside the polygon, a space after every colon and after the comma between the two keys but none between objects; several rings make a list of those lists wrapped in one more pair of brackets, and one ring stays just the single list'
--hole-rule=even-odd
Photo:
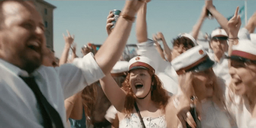
[{"label": "strongly tilted white cap with red band, right of the red-haired woman", "polygon": [[171,63],[176,73],[181,75],[189,71],[204,71],[212,67],[214,61],[209,58],[202,45],[197,45],[177,56]]}]

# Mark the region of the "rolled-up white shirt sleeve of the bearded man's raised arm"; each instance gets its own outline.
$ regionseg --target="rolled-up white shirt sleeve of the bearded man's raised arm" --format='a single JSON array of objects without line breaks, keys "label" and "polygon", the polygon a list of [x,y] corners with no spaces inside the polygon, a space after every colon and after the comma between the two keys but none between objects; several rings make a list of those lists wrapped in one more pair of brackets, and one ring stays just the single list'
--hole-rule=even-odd
[{"label": "rolled-up white shirt sleeve of the bearded man's raised arm", "polygon": [[63,64],[56,71],[59,74],[65,99],[105,76],[96,63],[93,53],[75,59],[73,64]]}]

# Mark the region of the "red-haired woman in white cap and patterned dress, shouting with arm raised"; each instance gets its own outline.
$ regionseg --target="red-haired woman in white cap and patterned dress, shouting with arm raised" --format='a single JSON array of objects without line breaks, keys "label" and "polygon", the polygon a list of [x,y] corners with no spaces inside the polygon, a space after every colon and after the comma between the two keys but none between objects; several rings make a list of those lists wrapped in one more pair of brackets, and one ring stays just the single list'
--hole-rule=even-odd
[{"label": "red-haired woman in white cap and patterned dress, shouting with arm raised", "polygon": [[137,56],[120,88],[111,75],[100,80],[102,89],[117,110],[120,128],[166,128],[165,106],[169,96],[155,75],[154,62]]}]

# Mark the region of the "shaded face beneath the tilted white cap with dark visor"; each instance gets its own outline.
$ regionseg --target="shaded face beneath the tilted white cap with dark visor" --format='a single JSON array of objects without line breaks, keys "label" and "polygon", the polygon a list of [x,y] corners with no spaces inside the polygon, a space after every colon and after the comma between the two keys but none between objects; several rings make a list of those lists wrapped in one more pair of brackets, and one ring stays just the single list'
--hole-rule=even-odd
[{"label": "shaded face beneath the tilted white cap with dark visor", "polygon": [[193,72],[193,87],[198,99],[212,97],[214,93],[214,75],[212,68],[202,72]]}]

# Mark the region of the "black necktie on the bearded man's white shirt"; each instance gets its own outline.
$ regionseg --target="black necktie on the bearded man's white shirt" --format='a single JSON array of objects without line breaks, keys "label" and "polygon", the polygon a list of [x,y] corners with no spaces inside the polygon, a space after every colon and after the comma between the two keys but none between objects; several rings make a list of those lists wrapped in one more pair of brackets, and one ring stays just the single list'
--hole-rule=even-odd
[{"label": "black necktie on the bearded man's white shirt", "polygon": [[64,128],[59,113],[52,107],[52,105],[50,105],[50,103],[46,100],[42,92],[39,90],[39,87],[35,82],[34,77],[20,76],[20,78],[24,80],[24,82],[30,87],[30,89],[35,94],[35,97],[39,104],[40,112],[44,120],[44,127],[45,128]]}]

